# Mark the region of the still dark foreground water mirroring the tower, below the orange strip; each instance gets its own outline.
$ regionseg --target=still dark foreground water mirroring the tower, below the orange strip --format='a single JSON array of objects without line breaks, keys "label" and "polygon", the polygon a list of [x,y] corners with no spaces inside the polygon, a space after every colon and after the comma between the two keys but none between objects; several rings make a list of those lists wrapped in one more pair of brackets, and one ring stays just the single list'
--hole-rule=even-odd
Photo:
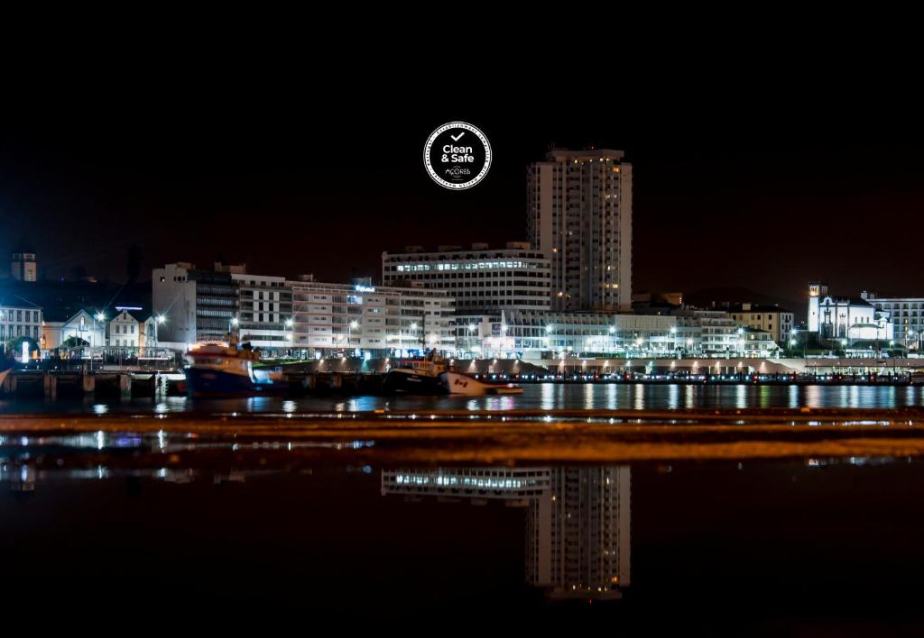
[{"label": "still dark foreground water mirroring the tower, below the orange strip", "polygon": [[286,467],[186,454],[126,468],[56,453],[0,447],[2,600],[43,626],[924,631],[918,461],[438,468],[332,453]]}]

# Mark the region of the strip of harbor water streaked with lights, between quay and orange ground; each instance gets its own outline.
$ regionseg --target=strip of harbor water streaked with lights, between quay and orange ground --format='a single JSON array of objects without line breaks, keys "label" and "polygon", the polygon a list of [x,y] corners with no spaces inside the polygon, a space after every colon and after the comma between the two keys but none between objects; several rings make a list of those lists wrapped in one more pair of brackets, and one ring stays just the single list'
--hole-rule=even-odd
[{"label": "strip of harbor water streaked with lights, between quay and orange ground", "polygon": [[0,400],[2,414],[95,413],[313,413],[385,410],[516,410],[852,407],[903,408],[924,405],[922,386],[754,386],[530,384],[523,394],[466,397],[272,397],[191,400],[168,398],[84,401]]}]

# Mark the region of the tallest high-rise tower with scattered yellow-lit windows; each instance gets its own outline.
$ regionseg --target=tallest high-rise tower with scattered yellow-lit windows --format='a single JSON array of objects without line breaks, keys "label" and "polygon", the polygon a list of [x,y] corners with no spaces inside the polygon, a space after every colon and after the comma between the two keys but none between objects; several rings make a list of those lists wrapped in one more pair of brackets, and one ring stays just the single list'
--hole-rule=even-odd
[{"label": "tallest high-rise tower with scattered yellow-lit windows", "polygon": [[622,150],[552,150],[529,166],[527,230],[552,261],[553,310],[629,310],[632,164]]}]

